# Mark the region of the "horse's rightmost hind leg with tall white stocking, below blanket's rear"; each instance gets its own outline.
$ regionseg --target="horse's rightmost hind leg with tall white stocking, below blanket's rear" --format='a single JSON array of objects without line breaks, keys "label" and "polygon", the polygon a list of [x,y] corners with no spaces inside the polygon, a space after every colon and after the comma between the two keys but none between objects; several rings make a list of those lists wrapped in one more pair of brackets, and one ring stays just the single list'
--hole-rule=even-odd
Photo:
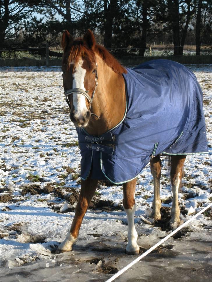
[{"label": "horse's rightmost hind leg with tall white stocking, below blanket's rear", "polygon": [[186,155],[183,156],[172,156],[171,158],[171,171],[170,178],[172,183],[172,209],[171,209],[171,220],[170,227],[174,230],[180,224],[180,209],[178,204],[178,192],[182,180],[183,165],[186,160]]}]

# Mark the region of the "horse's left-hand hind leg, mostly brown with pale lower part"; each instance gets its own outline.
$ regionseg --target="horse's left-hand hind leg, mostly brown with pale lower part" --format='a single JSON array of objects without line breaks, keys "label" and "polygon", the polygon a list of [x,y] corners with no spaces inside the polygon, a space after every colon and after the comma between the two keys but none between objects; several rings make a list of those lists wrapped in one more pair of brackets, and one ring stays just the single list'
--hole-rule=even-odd
[{"label": "horse's left-hand hind leg, mostly brown with pale lower part", "polygon": [[151,174],[153,176],[154,183],[154,198],[152,204],[152,213],[151,217],[156,220],[161,218],[160,208],[161,208],[161,200],[160,200],[160,176],[161,176],[161,160],[160,156],[156,156],[151,158],[150,160],[150,168]]}]

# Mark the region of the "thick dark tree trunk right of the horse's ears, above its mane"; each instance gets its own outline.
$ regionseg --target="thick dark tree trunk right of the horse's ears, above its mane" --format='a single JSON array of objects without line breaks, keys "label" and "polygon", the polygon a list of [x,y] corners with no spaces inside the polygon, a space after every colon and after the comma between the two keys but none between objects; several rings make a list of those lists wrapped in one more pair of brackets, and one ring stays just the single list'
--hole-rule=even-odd
[{"label": "thick dark tree trunk right of the horse's ears, above its mane", "polygon": [[110,0],[107,6],[107,0],[104,0],[104,17],[105,17],[105,35],[104,35],[104,46],[106,48],[112,48],[112,29],[113,19],[115,15],[117,0]]}]

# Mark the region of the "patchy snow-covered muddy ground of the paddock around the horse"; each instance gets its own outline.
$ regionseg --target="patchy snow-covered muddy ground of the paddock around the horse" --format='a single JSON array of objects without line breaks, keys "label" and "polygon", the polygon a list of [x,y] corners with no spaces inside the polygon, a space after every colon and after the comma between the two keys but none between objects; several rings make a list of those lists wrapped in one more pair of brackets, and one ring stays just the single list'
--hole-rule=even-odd
[{"label": "patchy snow-covered muddy ground of the paddock around the horse", "polygon": [[[209,155],[189,156],[185,163],[183,188],[179,194],[183,221],[190,218],[187,214],[190,207],[197,212],[212,200],[212,65],[188,67],[197,76],[203,90]],[[30,281],[70,281],[70,277],[76,282],[105,281],[109,274],[121,269],[133,258],[124,253],[127,244],[127,221],[121,205],[122,186],[107,187],[108,183],[100,182],[73,251],[67,254],[53,254],[59,242],[66,237],[80,190],[77,133],[69,119],[69,108],[63,95],[61,69],[1,67],[0,94],[2,281],[29,281],[29,277]],[[172,205],[165,159],[160,191],[165,219]],[[153,201],[153,181],[149,165],[138,176],[135,199],[135,223],[139,234],[138,243],[142,250],[151,247],[160,240],[158,238],[169,232],[165,220],[154,223],[145,215],[146,208],[151,207]],[[208,260],[211,258],[208,247],[212,234],[211,219],[211,210],[208,210],[178,238],[170,239],[167,243],[169,247],[150,255],[150,258],[159,261],[161,258],[166,267],[169,262],[165,261],[165,258],[170,253],[173,255],[175,251],[187,259],[190,258],[187,264],[185,257],[183,258],[184,267],[195,260],[207,264],[208,267]],[[188,242],[195,242],[197,249],[205,252],[204,255],[201,251],[192,253]],[[204,244],[201,245],[201,242]],[[164,256],[160,257],[161,253]],[[196,254],[195,258],[192,258],[192,254]],[[181,265],[182,258],[178,256],[178,259],[179,261],[176,256],[175,260],[172,259],[176,267]],[[144,263],[147,262],[146,259]],[[148,280],[133,278],[133,274],[138,276],[137,267],[133,268],[131,274],[127,274],[127,281]],[[146,267],[150,271],[151,263]],[[51,277],[49,268],[52,271]],[[42,274],[39,269],[42,269]],[[207,280],[211,275],[210,271],[199,273]],[[140,270],[139,275],[144,277],[150,274]],[[165,274],[161,273],[161,277],[165,277],[163,275]],[[64,277],[61,278],[62,276]],[[158,281],[162,281],[162,278]]]}]

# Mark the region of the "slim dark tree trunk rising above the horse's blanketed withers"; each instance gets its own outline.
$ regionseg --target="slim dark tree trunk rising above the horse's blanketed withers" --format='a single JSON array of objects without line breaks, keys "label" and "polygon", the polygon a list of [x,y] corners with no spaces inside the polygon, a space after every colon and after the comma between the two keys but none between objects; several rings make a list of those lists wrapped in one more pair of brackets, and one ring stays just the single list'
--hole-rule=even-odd
[{"label": "slim dark tree trunk rising above the horse's blanketed withers", "polygon": [[139,49],[139,56],[144,57],[146,50],[146,34],[148,28],[148,19],[147,19],[147,3],[148,1],[142,1],[142,36],[141,36],[141,49]]}]

